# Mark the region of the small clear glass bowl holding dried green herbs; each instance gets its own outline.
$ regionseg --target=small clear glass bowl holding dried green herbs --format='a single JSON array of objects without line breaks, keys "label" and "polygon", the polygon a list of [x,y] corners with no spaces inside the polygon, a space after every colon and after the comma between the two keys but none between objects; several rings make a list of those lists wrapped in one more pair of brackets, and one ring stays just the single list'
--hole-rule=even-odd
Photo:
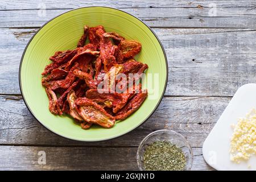
[{"label": "small clear glass bowl holding dried green herbs", "polygon": [[137,163],[139,170],[145,171],[143,166],[143,155],[146,148],[153,142],[156,141],[168,141],[173,144],[176,144],[177,147],[180,147],[181,150],[184,152],[186,158],[186,167],[185,171],[191,170],[192,162],[193,162],[193,152],[190,144],[188,141],[179,133],[172,130],[158,130],[154,131],[153,133],[147,135],[139,144],[138,151],[137,151]]}]

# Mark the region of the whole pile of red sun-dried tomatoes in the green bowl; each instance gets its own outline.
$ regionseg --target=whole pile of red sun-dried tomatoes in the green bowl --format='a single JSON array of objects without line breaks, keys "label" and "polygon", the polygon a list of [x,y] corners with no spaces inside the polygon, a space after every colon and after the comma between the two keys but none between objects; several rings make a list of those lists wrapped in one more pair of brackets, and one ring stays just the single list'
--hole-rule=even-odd
[{"label": "whole pile of red sun-dried tomatoes in the green bowl", "polygon": [[[86,39],[89,43],[85,44]],[[42,75],[42,85],[49,98],[52,114],[69,114],[81,123],[82,129],[92,124],[113,127],[115,120],[123,120],[133,114],[147,97],[141,83],[132,81],[132,89],[123,86],[121,78],[107,86],[99,85],[105,78],[118,74],[130,78],[130,74],[141,75],[147,64],[140,63],[134,56],[141,51],[141,43],[126,40],[115,32],[105,32],[104,27],[84,26],[84,34],[77,48],[57,51],[49,57],[52,61]],[[112,90],[119,86],[123,92]],[[128,92],[129,90],[129,92]]]}]

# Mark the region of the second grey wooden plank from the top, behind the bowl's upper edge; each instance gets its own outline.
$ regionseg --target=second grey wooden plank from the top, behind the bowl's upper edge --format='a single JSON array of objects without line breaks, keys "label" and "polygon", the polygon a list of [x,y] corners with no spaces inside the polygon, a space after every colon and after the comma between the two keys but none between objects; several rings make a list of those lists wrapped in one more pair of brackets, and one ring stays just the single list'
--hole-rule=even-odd
[{"label": "second grey wooden plank from the top, behind the bowl's upper edge", "polygon": [[[256,28],[256,10],[249,7],[218,7],[214,16],[211,8],[126,8],[151,27]],[[67,9],[0,11],[0,27],[40,27]]]}]

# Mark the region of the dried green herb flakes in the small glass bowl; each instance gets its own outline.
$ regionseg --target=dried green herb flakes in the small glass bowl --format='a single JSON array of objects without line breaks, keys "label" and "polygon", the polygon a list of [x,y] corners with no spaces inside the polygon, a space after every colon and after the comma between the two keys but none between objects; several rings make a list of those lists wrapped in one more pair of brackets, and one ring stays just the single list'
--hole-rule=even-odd
[{"label": "dried green herb flakes in the small glass bowl", "polygon": [[143,156],[144,168],[149,171],[181,171],[186,159],[181,148],[168,141],[150,144]]}]

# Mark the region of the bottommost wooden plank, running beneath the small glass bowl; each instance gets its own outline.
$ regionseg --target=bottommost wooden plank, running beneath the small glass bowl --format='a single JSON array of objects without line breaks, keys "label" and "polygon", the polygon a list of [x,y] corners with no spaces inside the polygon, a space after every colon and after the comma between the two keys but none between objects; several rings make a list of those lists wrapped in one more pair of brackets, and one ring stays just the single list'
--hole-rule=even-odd
[{"label": "bottommost wooden plank, running beneath the small glass bowl", "polygon": [[[42,152],[46,164],[38,162]],[[137,147],[0,146],[0,170],[138,170],[136,152]],[[201,148],[194,152],[192,169],[212,170],[204,162]]]}]

